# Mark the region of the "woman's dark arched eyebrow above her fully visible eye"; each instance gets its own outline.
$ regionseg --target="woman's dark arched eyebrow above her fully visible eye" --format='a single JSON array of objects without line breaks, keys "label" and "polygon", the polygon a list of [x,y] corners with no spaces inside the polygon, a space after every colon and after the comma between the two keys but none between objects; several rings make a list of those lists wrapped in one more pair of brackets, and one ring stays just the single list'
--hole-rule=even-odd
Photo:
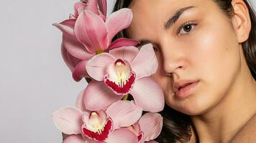
[{"label": "woman's dark arched eyebrow above her fully visible eye", "polygon": [[178,18],[180,18],[184,11],[192,9],[194,7],[195,6],[188,6],[178,9],[178,11],[176,11],[175,14],[173,14],[173,16],[171,16],[170,19],[166,22],[165,29],[169,29],[171,26],[173,26],[173,24],[175,24],[175,22],[178,20]]}]

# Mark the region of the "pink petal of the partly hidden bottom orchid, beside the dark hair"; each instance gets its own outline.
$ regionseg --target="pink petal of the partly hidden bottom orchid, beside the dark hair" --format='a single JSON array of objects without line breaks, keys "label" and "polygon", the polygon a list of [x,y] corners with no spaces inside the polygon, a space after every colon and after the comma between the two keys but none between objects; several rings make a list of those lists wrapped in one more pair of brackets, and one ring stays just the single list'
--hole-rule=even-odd
[{"label": "pink petal of the partly hidden bottom orchid, beside the dark hair", "polygon": [[144,133],[144,141],[150,141],[159,136],[163,127],[163,117],[158,113],[146,113],[139,120],[140,129]]}]

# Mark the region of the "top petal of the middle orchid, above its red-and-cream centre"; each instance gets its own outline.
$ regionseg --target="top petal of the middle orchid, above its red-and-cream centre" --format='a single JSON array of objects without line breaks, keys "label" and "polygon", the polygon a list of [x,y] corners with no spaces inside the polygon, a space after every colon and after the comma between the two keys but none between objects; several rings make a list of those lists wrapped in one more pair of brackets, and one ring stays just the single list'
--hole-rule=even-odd
[{"label": "top petal of the middle orchid, above its red-and-cream centre", "polygon": [[138,53],[139,49],[137,49],[135,46],[123,46],[121,48],[112,49],[109,51],[109,54],[114,56],[116,59],[125,59],[129,63],[133,61]]}]

